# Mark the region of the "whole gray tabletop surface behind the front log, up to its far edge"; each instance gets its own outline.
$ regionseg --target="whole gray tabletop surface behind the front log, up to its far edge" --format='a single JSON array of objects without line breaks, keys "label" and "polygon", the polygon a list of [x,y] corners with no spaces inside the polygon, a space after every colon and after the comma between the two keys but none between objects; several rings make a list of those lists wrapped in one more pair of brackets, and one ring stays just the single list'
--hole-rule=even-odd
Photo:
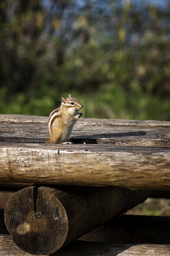
[{"label": "whole gray tabletop surface behind the front log, up to its far edge", "polygon": [[[0,115],[0,141],[45,143],[47,117]],[[170,147],[170,122],[81,119],[71,135],[74,143]]]}]

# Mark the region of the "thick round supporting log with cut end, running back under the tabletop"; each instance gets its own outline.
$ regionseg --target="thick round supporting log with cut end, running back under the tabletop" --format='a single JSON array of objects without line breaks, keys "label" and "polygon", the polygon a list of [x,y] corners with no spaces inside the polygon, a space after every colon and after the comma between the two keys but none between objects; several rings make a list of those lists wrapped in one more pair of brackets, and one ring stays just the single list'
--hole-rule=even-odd
[{"label": "thick round supporting log with cut end, running back under the tabletop", "polygon": [[146,200],[149,191],[31,186],[13,194],[4,219],[25,252],[49,254]]}]

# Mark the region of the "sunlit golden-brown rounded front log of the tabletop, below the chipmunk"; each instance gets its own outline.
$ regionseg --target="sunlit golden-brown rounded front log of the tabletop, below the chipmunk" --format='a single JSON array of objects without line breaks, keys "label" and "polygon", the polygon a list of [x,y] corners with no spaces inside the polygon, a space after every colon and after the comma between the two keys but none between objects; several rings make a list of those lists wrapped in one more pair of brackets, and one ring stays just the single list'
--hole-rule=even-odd
[{"label": "sunlit golden-brown rounded front log of the tabletop, below the chipmunk", "polygon": [[1,182],[170,190],[170,149],[0,143]]}]

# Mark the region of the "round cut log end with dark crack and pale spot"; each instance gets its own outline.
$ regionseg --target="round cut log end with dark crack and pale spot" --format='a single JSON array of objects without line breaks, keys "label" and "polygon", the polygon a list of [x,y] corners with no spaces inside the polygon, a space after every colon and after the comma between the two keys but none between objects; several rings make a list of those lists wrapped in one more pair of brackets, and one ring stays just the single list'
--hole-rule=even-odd
[{"label": "round cut log end with dark crack and pale spot", "polygon": [[65,208],[47,190],[32,186],[24,192],[25,196],[23,190],[15,193],[5,208],[5,224],[12,239],[30,254],[57,251],[68,232]]}]

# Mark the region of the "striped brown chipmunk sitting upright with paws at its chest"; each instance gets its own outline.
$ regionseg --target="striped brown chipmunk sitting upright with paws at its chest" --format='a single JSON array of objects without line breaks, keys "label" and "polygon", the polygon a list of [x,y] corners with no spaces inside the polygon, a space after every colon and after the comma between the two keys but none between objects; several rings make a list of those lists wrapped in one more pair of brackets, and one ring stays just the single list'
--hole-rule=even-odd
[{"label": "striped brown chipmunk sitting upright with paws at its chest", "polygon": [[54,109],[49,115],[48,130],[50,138],[47,140],[48,143],[71,144],[67,140],[71,135],[74,124],[83,115],[83,113],[79,113],[83,105],[71,94],[68,96],[68,98],[61,97],[60,107]]}]

